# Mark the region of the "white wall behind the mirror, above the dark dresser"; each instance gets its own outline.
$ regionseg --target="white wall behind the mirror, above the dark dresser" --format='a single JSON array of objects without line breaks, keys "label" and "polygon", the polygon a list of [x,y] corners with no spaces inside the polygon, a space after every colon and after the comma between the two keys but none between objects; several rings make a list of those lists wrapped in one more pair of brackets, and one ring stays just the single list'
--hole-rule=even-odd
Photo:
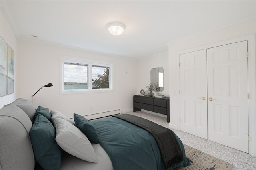
[{"label": "white wall behind the mirror, above the dark dresser", "polygon": [[[137,93],[140,93],[141,89],[144,89],[147,94],[146,85],[150,83],[150,71],[152,68],[163,67],[164,69],[164,91],[160,92],[163,95],[169,96],[169,65],[168,65],[168,53],[156,55],[154,57],[148,57],[138,60],[138,77],[137,77]],[[156,92],[154,92],[156,95]]]}]

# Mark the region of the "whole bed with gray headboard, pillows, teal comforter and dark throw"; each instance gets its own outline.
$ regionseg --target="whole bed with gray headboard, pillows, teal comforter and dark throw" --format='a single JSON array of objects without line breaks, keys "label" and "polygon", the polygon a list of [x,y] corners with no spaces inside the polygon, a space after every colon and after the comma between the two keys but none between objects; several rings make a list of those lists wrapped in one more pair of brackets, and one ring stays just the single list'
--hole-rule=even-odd
[{"label": "whole bed with gray headboard, pillows, teal comforter and dark throw", "polygon": [[[68,119],[42,106],[34,112],[28,108],[33,108],[29,101],[17,99],[1,109],[1,170],[171,170],[190,165],[178,136],[146,119],[121,114],[88,121],[79,114]],[[21,119],[26,132],[10,118]],[[18,141],[6,138],[11,130]],[[24,138],[28,142],[19,142]],[[13,143],[20,146],[10,149]]]}]

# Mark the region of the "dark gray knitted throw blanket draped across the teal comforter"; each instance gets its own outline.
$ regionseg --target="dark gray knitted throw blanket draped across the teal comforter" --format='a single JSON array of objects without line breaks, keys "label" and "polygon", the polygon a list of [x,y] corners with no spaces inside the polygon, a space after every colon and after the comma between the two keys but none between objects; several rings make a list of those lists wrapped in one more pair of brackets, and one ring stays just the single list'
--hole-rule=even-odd
[{"label": "dark gray knitted throw blanket draped across the teal comforter", "polygon": [[172,130],[134,115],[122,114],[115,115],[113,117],[117,117],[147,130],[156,139],[166,169],[183,160],[180,145],[178,144]]}]

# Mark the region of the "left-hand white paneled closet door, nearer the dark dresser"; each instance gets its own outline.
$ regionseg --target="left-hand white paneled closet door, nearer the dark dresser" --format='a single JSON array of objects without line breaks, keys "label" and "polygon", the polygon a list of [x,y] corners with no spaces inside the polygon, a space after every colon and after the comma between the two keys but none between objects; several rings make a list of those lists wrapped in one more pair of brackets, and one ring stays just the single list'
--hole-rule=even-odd
[{"label": "left-hand white paneled closet door, nearer the dark dresser", "polygon": [[180,55],[180,130],[207,139],[206,49]]}]

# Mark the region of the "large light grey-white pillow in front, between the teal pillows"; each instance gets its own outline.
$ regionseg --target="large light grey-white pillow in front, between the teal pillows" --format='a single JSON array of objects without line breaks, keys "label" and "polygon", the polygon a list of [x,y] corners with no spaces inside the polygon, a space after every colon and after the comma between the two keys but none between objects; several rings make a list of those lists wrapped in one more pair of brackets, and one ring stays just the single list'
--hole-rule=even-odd
[{"label": "large light grey-white pillow in front, between the teal pillows", "polygon": [[76,126],[65,119],[52,117],[58,145],[73,156],[88,162],[98,163],[91,142]]}]

